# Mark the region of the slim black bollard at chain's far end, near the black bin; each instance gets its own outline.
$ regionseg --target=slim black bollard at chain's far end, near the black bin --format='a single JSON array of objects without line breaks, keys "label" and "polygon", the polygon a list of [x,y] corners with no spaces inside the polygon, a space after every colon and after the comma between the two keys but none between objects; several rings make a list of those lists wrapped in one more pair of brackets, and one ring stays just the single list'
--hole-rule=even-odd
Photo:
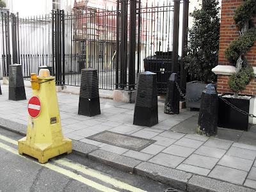
[{"label": "slim black bollard at chain's far end, near the black bin", "polygon": [[178,75],[173,73],[168,81],[167,95],[164,104],[164,113],[166,114],[179,114],[180,113],[180,93],[177,88]]}]

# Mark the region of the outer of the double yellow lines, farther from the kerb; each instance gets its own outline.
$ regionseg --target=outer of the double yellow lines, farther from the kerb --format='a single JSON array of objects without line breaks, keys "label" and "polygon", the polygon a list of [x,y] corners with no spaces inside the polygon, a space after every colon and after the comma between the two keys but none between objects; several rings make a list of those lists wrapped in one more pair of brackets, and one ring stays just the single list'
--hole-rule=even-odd
[{"label": "outer of the double yellow lines, farther from the kerb", "polygon": [[[15,148],[12,148],[8,145],[5,145],[4,143],[0,142],[0,148],[3,148],[4,150],[8,150],[9,152],[12,152],[13,154],[15,154],[17,156],[20,156],[20,154],[17,152],[17,150]],[[28,159],[25,156],[20,156],[20,157],[23,157],[24,159]],[[37,163],[35,161],[32,161],[32,162],[36,163],[36,164],[40,164],[40,163]],[[97,182],[94,182],[92,180],[84,178],[82,175],[76,174],[74,172],[70,172],[70,171],[65,170],[63,168],[60,168],[59,166],[56,166],[54,164],[46,163],[46,164],[40,164],[40,165],[44,166],[46,168],[49,168],[50,170],[53,170],[54,172],[61,173],[63,175],[66,175],[67,177],[70,177],[74,180],[82,182],[83,184],[86,184],[87,186],[98,189],[99,191],[118,192],[115,189],[111,189],[111,188],[108,188],[106,186],[102,186],[101,184],[98,184]]]}]

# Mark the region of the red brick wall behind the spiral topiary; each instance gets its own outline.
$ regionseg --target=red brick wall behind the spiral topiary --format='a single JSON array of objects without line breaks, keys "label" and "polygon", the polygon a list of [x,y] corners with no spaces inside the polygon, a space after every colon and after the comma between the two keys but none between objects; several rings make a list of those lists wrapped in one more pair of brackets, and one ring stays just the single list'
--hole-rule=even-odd
[{"label": "red brick wall behind the spiral topiary", "polygon": [[[221,26],[220,26],[220,52],[219,65],[230,65],[225,58],[225,50],[230,42],[239,36],[239,31],[234,22],[234,11],[243,3],[243,0],[222,0],[221,2]],[[254,19],[256,24],[256,18]],[[256,67],[256,44],[246,54],[247,60],[250,64]],[[228,89],[228,76],[218,76],[218,93],[232,93]],[[255,79],[246,86],[244,94],[256,95]]]}]

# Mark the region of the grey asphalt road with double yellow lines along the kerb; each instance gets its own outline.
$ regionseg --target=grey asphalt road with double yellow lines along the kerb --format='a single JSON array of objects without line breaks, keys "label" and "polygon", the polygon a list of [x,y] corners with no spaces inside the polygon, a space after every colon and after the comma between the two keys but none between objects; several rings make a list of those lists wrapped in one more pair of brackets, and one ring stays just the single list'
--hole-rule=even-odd
[{"label": "grey asphalt road with double yellow lines along the kerb", "polygon": [[39,164],[20,156],[19,134],[0,128],[0,192],[3,191],[164,191],[153,180],[122,172],[76,154]]}]

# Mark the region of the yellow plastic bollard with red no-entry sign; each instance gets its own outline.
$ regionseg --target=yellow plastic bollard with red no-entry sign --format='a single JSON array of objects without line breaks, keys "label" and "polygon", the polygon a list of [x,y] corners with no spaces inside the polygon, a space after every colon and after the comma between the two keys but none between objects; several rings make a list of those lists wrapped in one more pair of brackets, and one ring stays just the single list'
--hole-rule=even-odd
[{"label": "yellow plastic bollard with red no-entry sign", "polygon": [[52,157],[70,154],[72,141],[63,138],[61,131],[54,77],[49,76],[48,69],[41,70],[37,77],[40,88],[36,86],[33,89],[33,97],[28,104],[27,136],[18,141],[18,148],[19,154],[27,154],[38,159],[39,163],[47,163]]}]

